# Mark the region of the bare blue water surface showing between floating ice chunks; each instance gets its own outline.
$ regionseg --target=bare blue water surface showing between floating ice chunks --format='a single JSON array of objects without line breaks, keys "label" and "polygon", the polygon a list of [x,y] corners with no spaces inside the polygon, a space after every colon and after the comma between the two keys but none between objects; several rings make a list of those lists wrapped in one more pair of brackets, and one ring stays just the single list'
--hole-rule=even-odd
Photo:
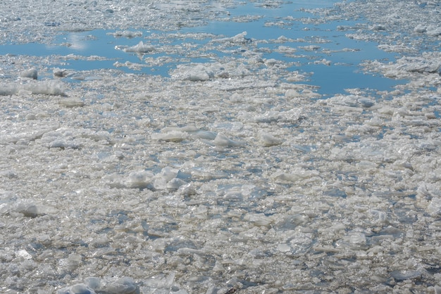
[{"label": "bare blue water surface showing between floating ice chunks", "polygon": [[[356,27],[354,20],[335,20],[321,22],[320,15],[308,11],[308,8],[330,6],[336,1],[295,1],[282,4],[280,7],[266,7],[260,4],[247,3],[238,5],[229,11],[230,16],[239,21],[208,21],[199,27],[183,27],[179,32],[154,32],[150,30],[132,30],[142,32],[142,36],[125,38],[114,37],[111,30],[91,30],[85,32],[64,32],[54,44],[10,44],[0,46],[0,54],[15,54],[28,56],[63,56],[66,60],[63,68],[68,70],[97,70],[113,68],[115,63],[142,64],[141,68],[130,69],[118,67],[126,72],[167,77],[169,71],[183,63],[182,53],[173,51],[152,51],[148,53],[128,53],[118,50],[120,47],[135,46],[139,41],[159,47],[164,41],[179,46],[183,41],[192,44],[187,51],[188,56],[199,50],[204,52],[204,46],[209,44],[211,37],[197,39],[176,39],[177,34],[210,34],[215,36],[233,37],[247,32],[247,38],[254,41],[258,48],[265,48],[262,58],[275,58],[285,63],[294,63],[289,70],[306,73],[306,84],[319,87],[318,93],[323,96],[342,93],[347,88],[390,90],[402,81],[388,79],[380,75],[366,74],[361,71],[359,64],[363,60],[395,60],[395,53],[386,53],[377,48],[377,44],[368,41],[349,39],[345,34],[350,30],[340,31],[338,27]],[[355,29],[354,29],[355,30]],[[159,36],[159,38],[152,37]],[[275,41],[278,37],[286,37],[283,44]],[[278,46],[288,46],[297,49],[294,56],[277,52]],[[316,49],[308,49],[315,46]],[[246,51],[246,48],[237,47]],[[190,56],[191,62],[212,62],[225,56],[216,48],[209,51],[210,57]],[[80,56],[80,58],[78,58]],[[99,60],[87,60],[88,56],[99,56]],[[146,66],[145,58],[170,58],[162,65]],[[188,59],[188,58],[187,58]],[[322,62],[324,60],[324,62]]]}]

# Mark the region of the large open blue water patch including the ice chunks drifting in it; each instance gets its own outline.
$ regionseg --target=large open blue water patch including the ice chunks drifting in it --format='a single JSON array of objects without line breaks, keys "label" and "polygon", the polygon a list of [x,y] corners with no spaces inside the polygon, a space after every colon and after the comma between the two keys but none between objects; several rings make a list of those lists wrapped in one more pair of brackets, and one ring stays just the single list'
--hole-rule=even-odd
[{"label": "large open blue water patch including the ice chunks drifting in it", "polygon": [[[285,73],[299,72],[306,77],[299,82],[317,87],[325,97],[348,88],[390,90],[404,82],[363,72],[360,63],[364,60],[392,62],[396,54],[380,51],[373,42],[349,39],[347,30],[338,30],[356,30],[356,22],[323,21],[306,9],[315,4],[304,5],[238,5],[228,11],[228,18],[225,15],[221,21],[208,20],[206,25],[175,32],[62,32],[53,44],[4,44],[0,54],[51,60],[54,68],[66,70],[66,75],[71,72],[67,80],[82,79],[77,72],[106,69],[169,77],[178,65],[235,58],[243,63],[261,60],[262,65],[276,65]],[[41,77],[50,75],[41,72]]]}]

